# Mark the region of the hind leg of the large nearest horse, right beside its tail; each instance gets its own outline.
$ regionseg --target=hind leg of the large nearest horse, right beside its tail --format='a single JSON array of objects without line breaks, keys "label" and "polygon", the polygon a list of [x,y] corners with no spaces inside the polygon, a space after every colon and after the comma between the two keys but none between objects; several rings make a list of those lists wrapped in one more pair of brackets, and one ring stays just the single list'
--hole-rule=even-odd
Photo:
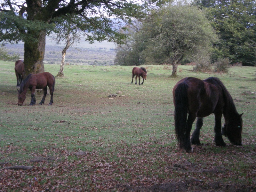
[{"label": "hind leg of the large nearest horse, right beside its tail", "polygon": [[186,152],[191,153],[193,152],[193,149],[191,147],[191,143],[190,143],[190,132],[192,129],[192,125],[193,122],[196,119],[196,115],[192,115],[191,113],[188,114],[188,120],[187,120],[187,126],[186,126],[186,130],[185,130],[185,135],[184,135],[184,149],[186,150]]}]

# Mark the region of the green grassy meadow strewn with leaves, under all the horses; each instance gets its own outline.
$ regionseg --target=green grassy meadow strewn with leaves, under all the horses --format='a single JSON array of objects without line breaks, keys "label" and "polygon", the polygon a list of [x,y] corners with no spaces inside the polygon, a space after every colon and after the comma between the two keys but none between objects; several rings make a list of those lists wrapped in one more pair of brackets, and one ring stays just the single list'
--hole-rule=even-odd
[{"label": "green grassy meadow strewn with leaves, under all the horses", "polygon": [[[44,67],[54,76],[60,68]],[[66,65],[52,106],[50,95],[38,105],[42,92],[28,106],[30,91],[18,106],[14,63],[0,61],[0,191],[256,191],[256,68],[208,74],[179,66],[172,78],[171,66],[144,67],[147,80],[135,85],[133,66]],[[180,151],[172,88],[187,76],[224,83],[244,113],[242,147],[227,138],[215,146],[211,115],[202,145]],[[33,169],[5,169],[15,165]]]}]

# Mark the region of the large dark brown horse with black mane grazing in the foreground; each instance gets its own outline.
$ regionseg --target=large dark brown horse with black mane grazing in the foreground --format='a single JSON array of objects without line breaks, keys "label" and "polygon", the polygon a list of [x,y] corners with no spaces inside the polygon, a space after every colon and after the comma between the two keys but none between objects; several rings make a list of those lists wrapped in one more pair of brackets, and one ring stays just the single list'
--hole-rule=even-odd
[{"label": "large dark brown horse with black mane grazing in the foreground", "polygon": [[[203,117],[215,115],[215,144],[225,146],[221,136],[221,117],[225,118],[222,134],[228,136],[234,145],[242,145],[242,115],[236,111],[235,104],[226,87],[216,77],[200,80],[194,77],[181,79],[173,88],[175,106],[175,133],[180,148],[188,153],[193,152],[190,144],[190,131],[197,117],[196,129],[191,143],[200,145],[199,134],[203,126]],[[188,116],[188,118],[187,118]]]}]

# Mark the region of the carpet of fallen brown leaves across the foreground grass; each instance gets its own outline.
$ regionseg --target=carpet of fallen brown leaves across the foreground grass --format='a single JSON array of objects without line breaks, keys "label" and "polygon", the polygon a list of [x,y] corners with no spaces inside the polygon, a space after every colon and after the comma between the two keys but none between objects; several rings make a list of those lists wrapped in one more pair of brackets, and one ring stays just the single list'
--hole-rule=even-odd
[{"label": "carpet of fallen brown leaves across the foreground grass", "polygon": [[[54,157],[37,156],[32,170],[6,170],[1,191],[255,191],[255,151],[248,146],[194,146],[184,154],[165,140],[110,148],[67,151],[52,148]],[[97,145],[97,144],[96,144]],[[219,151],[218,151],[219,150]],[[255,150],[255,149],[254,149]],[[45,151],[48,151],[45,149]],[[46,154],[46,153],[45,153]]]}]

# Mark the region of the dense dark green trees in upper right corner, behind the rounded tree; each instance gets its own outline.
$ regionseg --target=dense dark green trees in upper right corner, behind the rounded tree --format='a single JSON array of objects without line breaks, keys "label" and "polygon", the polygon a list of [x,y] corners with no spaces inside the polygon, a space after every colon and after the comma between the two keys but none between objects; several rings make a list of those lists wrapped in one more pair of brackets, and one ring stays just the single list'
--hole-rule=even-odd
[{"label": "dense dark green trees in upper right corner, behind the rounded tree", "polygon": [[216,44],[214,60],[228,58],[231,63],[256,65],[256,1],[196,0],[205,9],[221,42]]}]

